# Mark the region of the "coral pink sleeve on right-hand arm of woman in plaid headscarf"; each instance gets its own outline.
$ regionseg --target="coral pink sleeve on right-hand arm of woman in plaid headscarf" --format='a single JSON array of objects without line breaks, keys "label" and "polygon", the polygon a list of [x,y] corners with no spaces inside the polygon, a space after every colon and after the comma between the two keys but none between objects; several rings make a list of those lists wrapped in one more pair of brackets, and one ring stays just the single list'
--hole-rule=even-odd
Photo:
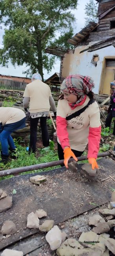
[{"label": "coral pink sleeve on right-hand arm of woman in plaid headscarf", "polygon": [[92,128],[89,127],[89,136],[88,136],[88,158],[97,158],[99,144],[101,138],[101,126]]}]

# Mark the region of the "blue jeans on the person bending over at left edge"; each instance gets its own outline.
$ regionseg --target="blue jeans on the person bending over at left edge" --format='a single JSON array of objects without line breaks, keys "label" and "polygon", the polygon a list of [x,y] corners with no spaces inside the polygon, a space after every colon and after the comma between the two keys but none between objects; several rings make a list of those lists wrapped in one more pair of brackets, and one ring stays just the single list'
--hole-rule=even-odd
[{"label": "blue jeans on the person bending over at left edge", "polygon": [[[0,131],[1,132],[1,131]],[[8,156],[8,145],[9,147],[14,150],[15,144],[13,138],[11,137],[10,131],[5,131],[4,129],[0,133],[0,142],[2,146],[2,154]]]}]

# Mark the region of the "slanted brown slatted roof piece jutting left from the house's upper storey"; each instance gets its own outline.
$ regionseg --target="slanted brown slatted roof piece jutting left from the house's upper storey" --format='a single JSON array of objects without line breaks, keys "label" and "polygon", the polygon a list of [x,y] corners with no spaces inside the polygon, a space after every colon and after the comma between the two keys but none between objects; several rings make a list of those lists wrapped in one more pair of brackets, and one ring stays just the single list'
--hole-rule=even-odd
[{"label": "slanted brown slatted roof piece jutting left from the house's upper storey", "polygon": [[76,46],[85,37],[87,37],[89,35],[89,33],[91,33],[97,26],[98,26],[98,23],[90,21],[89,24],[85,28],[83,28],[79,33],[77,33],[71,39],[69,39],[67,41],[67,43]]}]

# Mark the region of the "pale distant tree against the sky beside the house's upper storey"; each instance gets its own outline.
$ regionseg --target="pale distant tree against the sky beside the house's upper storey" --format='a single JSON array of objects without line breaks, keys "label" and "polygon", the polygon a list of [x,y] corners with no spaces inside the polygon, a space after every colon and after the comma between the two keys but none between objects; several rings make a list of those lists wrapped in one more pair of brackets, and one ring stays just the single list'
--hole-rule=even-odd
[{"label": "pale distant tree against the sky beside the house's upper storey", "polygon": [[97,11],[98,11],[97,4],[94,3],[94,0],[89,0],[89,3],[85,5],[85,14],[86,14],[85,26],[87,26],[87,24],[90,21],[98,22]]}]

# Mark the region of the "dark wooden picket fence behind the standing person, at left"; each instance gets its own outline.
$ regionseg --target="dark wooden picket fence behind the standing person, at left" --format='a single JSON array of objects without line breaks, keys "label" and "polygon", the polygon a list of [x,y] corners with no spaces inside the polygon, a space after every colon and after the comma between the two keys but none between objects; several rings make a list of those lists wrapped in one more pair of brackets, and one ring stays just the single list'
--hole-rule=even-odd
[{"label": "dark wooden picket fence behind the standing person, at left", "polygon": [[0,78],[0,89],[24,91],[27,84],[26,82]]}]

